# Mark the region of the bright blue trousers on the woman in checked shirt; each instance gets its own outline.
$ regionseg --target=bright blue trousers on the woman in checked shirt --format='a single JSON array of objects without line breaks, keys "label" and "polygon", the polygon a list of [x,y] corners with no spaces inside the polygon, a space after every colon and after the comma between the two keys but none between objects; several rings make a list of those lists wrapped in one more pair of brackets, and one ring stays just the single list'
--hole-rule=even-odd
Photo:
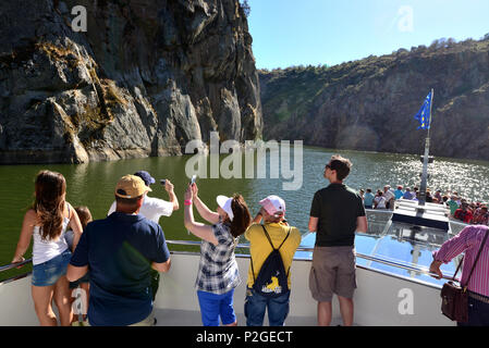
[{"label": "bright blue trousers on the woman in checked shirt", "polygon": [[236,321],[233,308],[234,289],[217,295],[207,291],[197,291],[198,303],[204,326],[219,326],[219,318],[222,325],[229,325]]}]

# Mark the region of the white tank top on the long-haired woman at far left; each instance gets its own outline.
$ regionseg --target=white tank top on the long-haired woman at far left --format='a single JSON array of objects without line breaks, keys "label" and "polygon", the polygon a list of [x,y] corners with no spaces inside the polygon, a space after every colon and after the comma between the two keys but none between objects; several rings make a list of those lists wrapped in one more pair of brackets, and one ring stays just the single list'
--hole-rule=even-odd
[{"label": "white tank top on the long-haired woman at far left", "polygon": [[41,227],[40,226],[34,226],[34,246],[33,246],[33,264],[39,264],[44,263],[46,261],[49,261],[57,256],[60,256],[68,249],[68,243],[64,238],[64,235],[66,233],[68,224],[70,223],[70,219],[64,217],[63,219],[63,225],[61,229],[61,235],[58,236],[58,238],[53,240],[49,239],[42,239],[41,236]]}]

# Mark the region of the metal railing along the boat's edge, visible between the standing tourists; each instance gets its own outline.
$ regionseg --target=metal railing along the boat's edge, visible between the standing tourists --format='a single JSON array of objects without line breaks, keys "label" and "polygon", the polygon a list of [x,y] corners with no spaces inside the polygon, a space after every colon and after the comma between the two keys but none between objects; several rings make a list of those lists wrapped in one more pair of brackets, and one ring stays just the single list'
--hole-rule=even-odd
[{"label": "metal railing along the boat's edge, visible between the standing tourists", "polygon": [[[173,246],[193,246],[193,247],[200,246],[200,241],[198,241],[198,240],[167,240],[167,243],[169,245],[173,245]],[[249,249],[249,245],[248,244],[239,244],[236,246],[236,248],[239,248],[239,249]],[[297,248],[297,251],[313,252],[314,248],[311,248],[311,247],[301,247],[299,246]],[[172,251],[172,253],[198,254],[199,252],[195,252],[195,251],[194,252],[192,252],[192,251]],[[244,257],[244,258],[249,257],[249,254],[246,254],[246,253],[237,254],[237,256],[239,257]],[[415,272],[415,273],[418,273],[418,274],[436,276],[436,274],[435,273],[430,273],[429,269],[427,269],[427,268],[419,268],[419,266],[415,266],[415,265],[404,264],[404,263],[396,262],[396,261],[393,261],[393,260],[386,260],[386,259],[381,259],[381,258],[377,258],[377,257],[372,257],[372,256],[368,256],[368,254],[363,254],[363,253],[358,253],[358,252],[356,253],[356,257],[360,258],[360,259],[364,259],[364,260],[367,260],[367,261],[378,262],[378,263],[381,263],[381,264],[384,264],[384,265],[388,265],[388,266],[393,266],[393,268],[396,268],[396,269],[402,269],[402,270],[406,270],[406,271],[409,271],[409,272]],[[308,260],[310,260],[310,257],[296,257],[296,258],[294,258],[294,260],[296,260],[296,261],[308,261]],[[23,266],[23,265],[30,264],[32,261],[33,261],[32,259],[28,259],[28,260],[25,260],[23,262],[10,263],[10,264],[7,264],[7,265],[2,265],[2,266],[0,266],[0,273],[5,272],[5,271],[10,271],[10,270],[13,270],[13,269],[16,269],[16,268],[20,268],[20,266]],[[368,268],[368,269],[375,270],[374,268]],[[30,273],[32,272],[28,272],[28,273],[24,273],[24,274],[16,275],[14,277],[4,279],[4,281],[0,281],[0,284],[5,284],[5,283],[10,283],[10,282],[23,278],[25,276],[28,276]],[[445,275],[444,274],[443,278],[452,281],[453,279],[453,275]],[[459,282],[460,279],[455,278],[455,281]]]}]

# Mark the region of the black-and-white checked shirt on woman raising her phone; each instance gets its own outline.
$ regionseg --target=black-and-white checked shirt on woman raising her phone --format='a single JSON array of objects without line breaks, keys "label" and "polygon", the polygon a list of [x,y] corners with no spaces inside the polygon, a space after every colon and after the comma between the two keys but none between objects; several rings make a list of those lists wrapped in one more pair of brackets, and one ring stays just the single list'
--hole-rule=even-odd
[{"label": "black-and-white checked shirt on woman raising her phone", "polygon": [[241,283],[234,257],[237,238],[231,235],[230,225],[222,222],[212,225],[212,232],[219,244],[215,246],[203,240],[195,287],[197,290],[220,295],[232,290]]}]

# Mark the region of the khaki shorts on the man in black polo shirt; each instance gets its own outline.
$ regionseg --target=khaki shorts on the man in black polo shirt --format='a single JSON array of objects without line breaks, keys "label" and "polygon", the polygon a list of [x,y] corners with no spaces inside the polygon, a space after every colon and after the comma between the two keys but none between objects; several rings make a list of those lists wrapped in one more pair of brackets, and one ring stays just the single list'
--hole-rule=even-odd
[{"label": "khaki shorts on the man in black polo shirt", "polygon": [[353,247],[315,247],[309,289],[318,302],[331,302],[333,294],[353,298],[356,289],[356,257]]}]

